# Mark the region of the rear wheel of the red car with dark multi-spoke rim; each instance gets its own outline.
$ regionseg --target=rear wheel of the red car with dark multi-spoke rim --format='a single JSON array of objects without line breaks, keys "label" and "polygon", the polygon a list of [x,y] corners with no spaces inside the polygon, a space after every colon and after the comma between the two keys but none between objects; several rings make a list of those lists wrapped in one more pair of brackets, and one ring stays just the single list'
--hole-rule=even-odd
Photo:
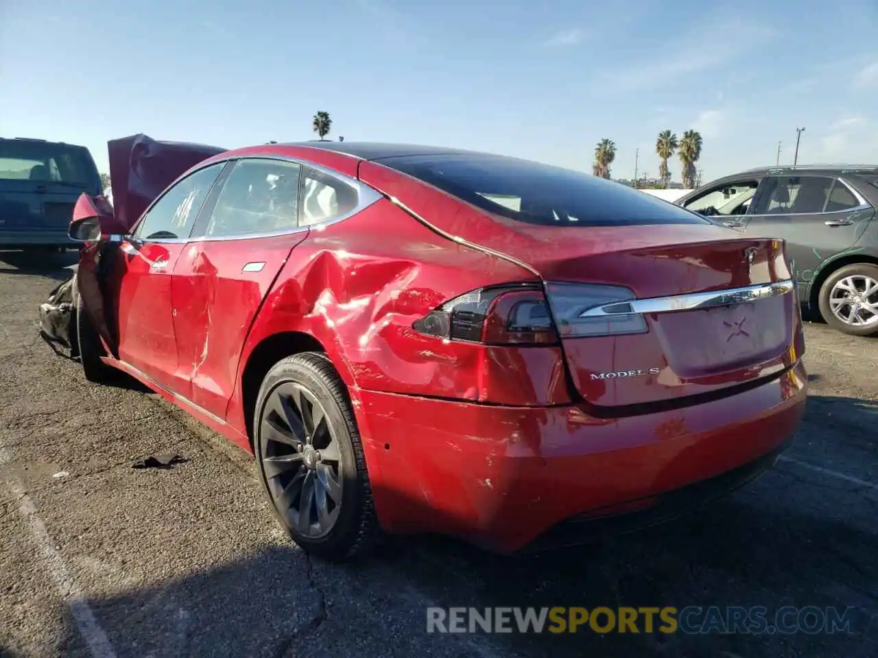
[{"label": "rear wheel of the red car with dark multi-spoke rim", "polygon": [[332,362],[314,352],[278,361],[256,398],[253,432],[259,479],[291,539],[327,561],[364,554],[378,522],[353,407]]}]

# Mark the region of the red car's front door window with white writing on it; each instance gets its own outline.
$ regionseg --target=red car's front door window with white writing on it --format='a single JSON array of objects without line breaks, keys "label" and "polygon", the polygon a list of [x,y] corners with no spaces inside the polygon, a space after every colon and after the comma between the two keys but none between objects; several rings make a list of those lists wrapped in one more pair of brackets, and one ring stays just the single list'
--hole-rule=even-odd
[{"label": "red car's front door window with white writing on it", "polygon": [[189,237],[198,211],[225,162],[199,169],[171,187],[140,220],[134,235],[142,240]]}]

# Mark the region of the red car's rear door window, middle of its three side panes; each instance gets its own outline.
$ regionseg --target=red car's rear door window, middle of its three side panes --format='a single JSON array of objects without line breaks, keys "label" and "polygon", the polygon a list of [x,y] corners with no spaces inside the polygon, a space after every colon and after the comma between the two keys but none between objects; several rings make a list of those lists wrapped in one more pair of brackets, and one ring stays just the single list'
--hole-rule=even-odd
[{"label": "red car's rear door window, middle of its three side panes", "polygon": [[219,192],[205,237],[289,231],[298,225],[299,170],[294,162],[239,160]]}]

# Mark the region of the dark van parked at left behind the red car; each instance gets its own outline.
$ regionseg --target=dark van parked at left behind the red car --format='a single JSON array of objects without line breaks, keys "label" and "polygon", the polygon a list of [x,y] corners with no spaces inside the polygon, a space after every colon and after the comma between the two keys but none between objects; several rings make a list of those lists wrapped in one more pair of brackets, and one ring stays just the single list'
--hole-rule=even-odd
[{"label": "dark van parked at left behind the red car", "polygon": [[83,193],[101,193],[86,147],[0,138],[0,249],[76,247],[68,226]]}]

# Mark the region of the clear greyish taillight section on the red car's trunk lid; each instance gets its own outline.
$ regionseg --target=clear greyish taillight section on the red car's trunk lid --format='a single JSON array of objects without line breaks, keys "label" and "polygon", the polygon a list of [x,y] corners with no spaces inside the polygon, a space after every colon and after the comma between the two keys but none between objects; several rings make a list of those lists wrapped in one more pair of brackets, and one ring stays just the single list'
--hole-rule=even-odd
[{"label": "clear greyish taillight section on the red car's trunk lid", "polygon": [[615,336],[647,331],[643,314],[633,312],[634,293],[621,286],[547,283],[551,311],[561,338]]}]

